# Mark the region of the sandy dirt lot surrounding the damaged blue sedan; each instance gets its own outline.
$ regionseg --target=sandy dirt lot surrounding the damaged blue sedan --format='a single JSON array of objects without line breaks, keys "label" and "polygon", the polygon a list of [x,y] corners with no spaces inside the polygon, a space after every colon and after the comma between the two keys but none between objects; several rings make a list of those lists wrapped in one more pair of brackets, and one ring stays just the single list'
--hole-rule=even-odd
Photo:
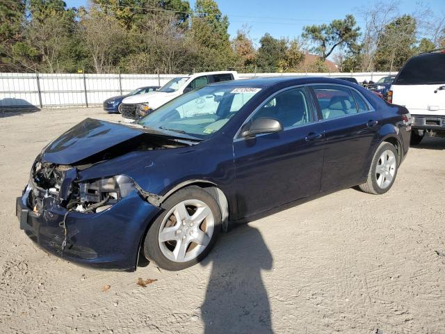
[{"label": "sandy dirt lot surrounding the damaged blue sedan", "polygon": [[190,269],[124,273],[47,255],[15,218],[35,156],[86,117],[119,118],[0,114],[1,333],[445,333],[444,139],[412,148],[383,196],[333,193],[224,234]]}]

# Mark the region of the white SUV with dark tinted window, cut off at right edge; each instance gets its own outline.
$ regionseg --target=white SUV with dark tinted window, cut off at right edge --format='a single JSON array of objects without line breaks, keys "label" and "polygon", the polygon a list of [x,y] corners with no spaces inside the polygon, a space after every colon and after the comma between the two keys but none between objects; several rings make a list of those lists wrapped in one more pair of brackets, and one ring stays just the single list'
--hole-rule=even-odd
[{"label": "white SUV with dark tinted window, cut off at right edge", "polygon": [[394,79],[388,102],[410,111],[412,145],[425,135],[445,137],[445,49],[410,58]]}]

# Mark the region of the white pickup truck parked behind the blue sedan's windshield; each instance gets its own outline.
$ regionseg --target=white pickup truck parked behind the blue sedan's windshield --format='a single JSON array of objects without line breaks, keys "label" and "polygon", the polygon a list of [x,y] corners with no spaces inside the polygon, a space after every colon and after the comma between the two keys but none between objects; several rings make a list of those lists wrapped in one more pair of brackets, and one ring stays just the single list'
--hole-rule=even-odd
[{"label": "white pickup truck parked behind the blue sedan's windshield", "polygon": [[238,79],[235,71],[202,72],[176,77],[156,92],[126,97],[119,112],[126,121],[137,120],[175,97],[214,82]]}]

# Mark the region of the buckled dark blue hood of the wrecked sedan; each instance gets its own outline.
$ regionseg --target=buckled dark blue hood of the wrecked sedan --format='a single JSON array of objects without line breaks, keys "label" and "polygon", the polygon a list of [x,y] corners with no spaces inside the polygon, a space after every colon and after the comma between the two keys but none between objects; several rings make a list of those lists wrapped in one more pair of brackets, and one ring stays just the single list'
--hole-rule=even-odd
[{"label": "buckled dark blue hood of the wrecked sedan", "polygon": [[154,130],[87,118],[49,143],[41,155],[44,161],[52,164],[86,165],[133,150],[156,150],[163,145],[180,144],[175,137]]}]

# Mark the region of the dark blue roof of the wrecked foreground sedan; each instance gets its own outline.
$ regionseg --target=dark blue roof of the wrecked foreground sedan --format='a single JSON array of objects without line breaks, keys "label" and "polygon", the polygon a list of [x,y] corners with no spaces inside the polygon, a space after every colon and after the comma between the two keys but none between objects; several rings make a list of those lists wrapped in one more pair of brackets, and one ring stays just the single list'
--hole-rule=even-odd
[{"label": "dark blue roof of the wrecked foreground sedan", "polygon": [[257,77],[252,79],[239,79],[223,81],[209,86],[239,86],[239,87],[268,87],[286,81],[293,81],[293,84],[350,84],[349,81],[330,77]]}]

